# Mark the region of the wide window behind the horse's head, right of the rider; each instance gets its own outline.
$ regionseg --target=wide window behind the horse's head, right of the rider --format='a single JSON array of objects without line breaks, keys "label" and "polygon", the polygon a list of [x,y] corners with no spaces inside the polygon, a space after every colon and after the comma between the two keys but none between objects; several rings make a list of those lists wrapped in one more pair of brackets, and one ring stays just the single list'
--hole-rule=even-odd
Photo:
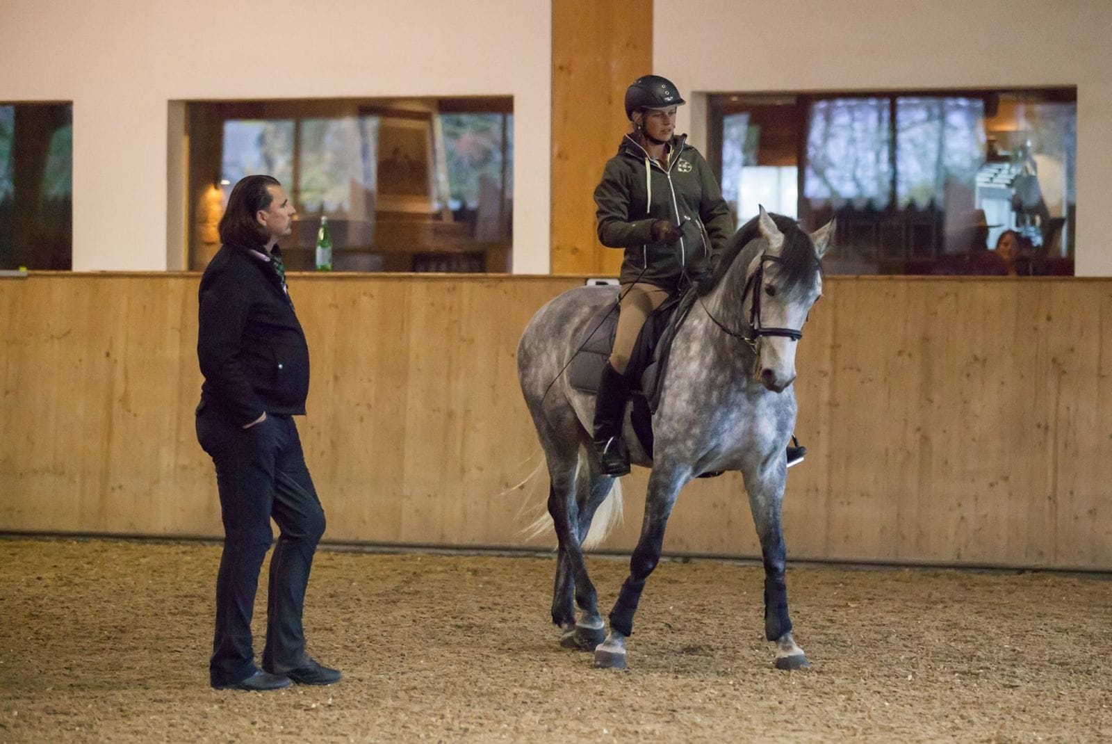
[{"label": "wide window behind the horse's head, right of the rider", "polygon": [[739,221],[758,204],[836,216],[831,272],[1073,274],[1075,89],[714,96],[709,110]]}]

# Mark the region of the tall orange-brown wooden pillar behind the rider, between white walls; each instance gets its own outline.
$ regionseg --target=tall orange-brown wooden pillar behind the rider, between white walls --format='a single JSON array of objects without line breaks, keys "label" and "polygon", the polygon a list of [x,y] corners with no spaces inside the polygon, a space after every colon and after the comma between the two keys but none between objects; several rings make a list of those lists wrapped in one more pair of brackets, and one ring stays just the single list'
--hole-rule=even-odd
[{"label": "tall orange-brown wooden pillar behind the rider, between white walls", "polygon": [[553,0],[552,272],[617,276],[593,194],[629,131],[626,87],[653,72],[653,0]]}]

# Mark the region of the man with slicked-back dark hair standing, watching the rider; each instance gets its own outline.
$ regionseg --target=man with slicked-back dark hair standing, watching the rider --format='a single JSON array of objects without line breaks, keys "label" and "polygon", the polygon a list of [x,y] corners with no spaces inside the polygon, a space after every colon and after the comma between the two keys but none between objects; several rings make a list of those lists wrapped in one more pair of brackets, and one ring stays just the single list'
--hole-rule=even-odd
[{"label": "man with slicked-back dark hair standing, watching the rider", "polygon": [[[200,285],[197,357],[205,383],[197,439],[212,457],[224,555],[216,582],[216,636],[209,679],[217,688],[327,685],[340,673],[305,651],[301,609],[325,513],[292,416],[305,414],[309,348],[286,288],[278,239],[294,206],[270,176],[231,190],[220,250]],[[251,612],[270,518],[280,529],[270,561],[262,671],[251,648]]]}]

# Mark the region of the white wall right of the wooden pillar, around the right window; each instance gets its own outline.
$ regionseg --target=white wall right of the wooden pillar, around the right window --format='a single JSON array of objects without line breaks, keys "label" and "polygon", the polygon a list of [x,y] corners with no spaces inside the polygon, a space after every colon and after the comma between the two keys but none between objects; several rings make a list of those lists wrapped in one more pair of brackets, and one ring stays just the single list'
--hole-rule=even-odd
[{"label": "white wall right of the wooden pillar, around the right window", "polygon": [[[654,0],[654,71],[684,93],[1076,86],[1075,270],[1112,276],[1112,0]],[[696,147],[704,122],[681,108]]]}]

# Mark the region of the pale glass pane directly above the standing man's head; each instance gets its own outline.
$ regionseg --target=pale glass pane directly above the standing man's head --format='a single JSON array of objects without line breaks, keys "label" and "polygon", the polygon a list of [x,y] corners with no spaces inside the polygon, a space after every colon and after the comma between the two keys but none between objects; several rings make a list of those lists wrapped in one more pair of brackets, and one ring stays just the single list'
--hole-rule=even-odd
[{"label": "pale glass pane directly above the standing man's head", "polygon": [[229,119],[224,122],[220,178],[229,185],[266,173],[289,188],[294,182],[292,120]]}]

